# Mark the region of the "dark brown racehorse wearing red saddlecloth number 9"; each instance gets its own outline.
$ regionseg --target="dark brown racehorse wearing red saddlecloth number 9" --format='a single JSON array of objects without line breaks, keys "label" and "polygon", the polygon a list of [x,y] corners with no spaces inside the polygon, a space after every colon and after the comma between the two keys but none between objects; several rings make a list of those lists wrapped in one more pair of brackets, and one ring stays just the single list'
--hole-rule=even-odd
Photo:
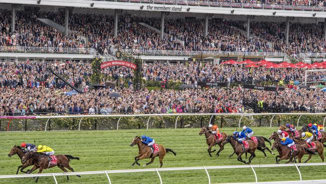
[{"label": "dark brown racehorse wearing red saddlecloth number 9", "polygon": [[[223,141],[223,145],[225,145],[227,143],[231,144],[235,154],[238,155],[237,160],[240,161],[240,162],[250,164],[251,160],[256,156],[255,151],[257,149],[257,144],[252,140],[247,140],[248,148],[245,148],[244,151],[242,149],[242,145],[240,143],[238,143],[237,140],[233,139],[233,137],[230,136],[230,135],[225,139],[225,141]],[[241,158],[241,155],[243,153],[247,153],[247,152],[250,153],[249,162],[246,162],[245,160],[242,160],[242,158]]]}]

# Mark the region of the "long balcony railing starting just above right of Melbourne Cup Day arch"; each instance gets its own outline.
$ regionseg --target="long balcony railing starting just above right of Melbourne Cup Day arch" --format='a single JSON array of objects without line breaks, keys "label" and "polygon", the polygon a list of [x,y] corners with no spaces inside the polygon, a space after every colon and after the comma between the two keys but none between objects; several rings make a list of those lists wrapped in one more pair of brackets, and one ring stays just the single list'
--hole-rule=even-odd
[{"label": "long balcony railing starting just above right of Melbourne Cup Day arch", "polygon": [[220,56],[261,56],[288,58],[286,53],[282,52],[228,52],[228,51],[188,51],[188,50],[142,50],[142,49],[123,49],[128,54],[149,55],[149,56],[195,56],[201,54],[211,54]]}]

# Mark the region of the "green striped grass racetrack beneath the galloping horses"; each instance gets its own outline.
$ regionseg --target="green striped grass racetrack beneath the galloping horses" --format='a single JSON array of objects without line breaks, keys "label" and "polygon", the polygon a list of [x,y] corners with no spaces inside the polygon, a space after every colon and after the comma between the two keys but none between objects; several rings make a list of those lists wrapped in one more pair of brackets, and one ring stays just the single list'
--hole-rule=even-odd
[{"label": "green striped grass racetrack beneath the galloping horses", "polygon": [[[228,135],[235,128],[223,128]],[[267,127],[253,127],[254,135],[269,137],[277,130]],[[55,154],[70,154],[80,157],[72,160],[70,165],[76,171],[113,170],[113,169],[138,169],[149,159],[141,160],[141,166],[131,167],[138,148],[129,144],[133,137],[146,134],[155,139],[158,144],[164,145],[177,152],[177,156],[167,153],[163,160],[163,167],[189,167],[189,166],[214,166],[214,165],[242,165],[236,160],[236,155],[228,158],[233,152],[230,144],[220,156],[210,157],[207,152],[205,135],[199,136],[199,128],[193,129],[150,129],[150,130],[119,130],[119,131],[51,131],[51,132],[1,132],[0,133],[0,175],[15,174],[21,164],[17,155],[8,157],[10,149],[21,142],[34,142],[52,147]],[[267,143],[270,148],[269,144]],[[215,147],[215,149],[218,147]],[[277,151],[273,151],[278,155]],[[266,151],[256,151],[252,164],[273,164],[275,156]],[[248,156],[249,157],[249,156]],[[242,156],[244,159],[244,156]],[[303,161],[307,155],[303,157]],[[284,163],[285,161],[281,161]],[[318,155],[312,156],[309,162],[321,162]],[[32,166],[30,166],[32,167]],[[28,167],[28,168],[30,168]],[[159,167],[158,158],[146,168]],[[302,179],[326,179],[324,170],[326,166],[301,166]],[[26,170],[26,169],[25,169]],[[256,168],[258,181],[298,180],[299,174],[295,167]],[[37,173],[38,170],[33,173]],[[223,182],[254,182],[255,177],[250,168],[238,169],[209,169],[212,183]],[[47,172],[62,172],[58,167],[46,169]],[[20,173],[24,174],[24,173]],[[160,171],[164,183],[208,183],[205,170],[196,171]],[[112,183],[159,183],[155,172],[109,174]],[[105,174],[70,176],[68,181],[65,176],[57,176],[59,183],[108,183]],[[35,183],[32,178],[0,179],[0,183]],[[40,177],[39,183],[54,183],[52,177]]]}]

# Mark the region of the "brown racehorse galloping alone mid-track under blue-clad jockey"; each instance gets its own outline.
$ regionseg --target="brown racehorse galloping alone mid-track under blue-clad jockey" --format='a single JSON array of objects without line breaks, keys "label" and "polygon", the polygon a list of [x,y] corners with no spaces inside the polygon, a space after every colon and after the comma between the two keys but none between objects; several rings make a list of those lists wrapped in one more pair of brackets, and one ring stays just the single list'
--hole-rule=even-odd
[{"label": "brown racehorse galloping alone mid-track under blue-clad jockey", "polygon": [[[175,156],[177,155],[177,153],[175,153],[172,149],[169,148],[164,148],[162,145],[157,144],[159,151],[157,153],[152,153],[151,149],[149,146],[147,146],[146,144],[142,143],[140,137],[136,136],[132,139],[130,146],[134,146],[134,145],[138,145],[138,156],[135,156],[135,161],[131,164],[131,166],[133,166],[135,163],[137,163],[137,165],[140,165],[138,163],[139,160],[142,160],[144,158],[151,158],[150,161],[146,164],[144,164],[143,166],[146,166],[150,163],[152,163],[154,161],[154,158],[156,156],[158,156],[159,158],[159,166],[162,167],[163,165],[163,158],[165,157],[165,155],[167,154],[167,152],[172,152]],[[154,150],[153,150],[154,151]]]}]

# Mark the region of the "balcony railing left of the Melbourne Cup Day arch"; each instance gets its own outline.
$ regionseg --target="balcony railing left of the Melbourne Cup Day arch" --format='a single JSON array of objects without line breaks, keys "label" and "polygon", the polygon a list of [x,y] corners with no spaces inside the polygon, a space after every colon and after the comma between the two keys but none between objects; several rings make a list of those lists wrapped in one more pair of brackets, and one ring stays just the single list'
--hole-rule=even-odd
[{"label": "balcony railing left of the Melbourne Cup Day arch", "polygon": [[93,48],[62,48],[62,47],[25,47],[0,46],[0,52],[6,53],[40,53],[40,54],[87,54],[96,55]]}]

